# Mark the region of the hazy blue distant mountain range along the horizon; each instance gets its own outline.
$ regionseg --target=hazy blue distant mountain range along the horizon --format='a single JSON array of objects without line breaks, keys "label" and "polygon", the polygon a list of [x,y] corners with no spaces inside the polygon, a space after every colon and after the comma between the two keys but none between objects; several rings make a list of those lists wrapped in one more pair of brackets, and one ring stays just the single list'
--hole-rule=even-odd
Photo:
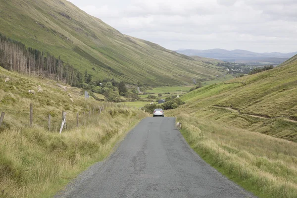
[{"label": "hazy blue distant mountain range along the horizon", "polygon": [[292,56],[297,54],[296,52],[291,53],[256,53],[247,50],[235,49],[182,49],[176,50],[176,52],[185,54],[188,56],[201,56],[206,58],[215,58],[219,60],[229,61],[229,62],[259,62],[259,63],[282,63]]}]

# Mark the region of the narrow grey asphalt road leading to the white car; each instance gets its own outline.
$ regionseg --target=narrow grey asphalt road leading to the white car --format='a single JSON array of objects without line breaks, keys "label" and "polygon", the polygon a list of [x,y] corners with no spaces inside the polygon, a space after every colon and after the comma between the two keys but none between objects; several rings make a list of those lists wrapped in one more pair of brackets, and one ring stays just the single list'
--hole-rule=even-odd
[{"label": "narrow grey asphalt road leading to the white car", "polygon": [[104,162],[55,198],[254,198],[205,163],[175,119],[143,119]]}]

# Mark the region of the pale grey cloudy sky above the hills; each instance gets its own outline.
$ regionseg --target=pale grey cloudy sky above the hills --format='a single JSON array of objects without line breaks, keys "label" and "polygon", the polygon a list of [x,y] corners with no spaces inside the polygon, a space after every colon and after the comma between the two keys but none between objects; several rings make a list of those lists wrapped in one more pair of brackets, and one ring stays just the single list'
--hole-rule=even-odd
[{"label": "pale grey cloudy sky above the hills", "polygon": [[297,0],[69,0],[167,49],[297,51]]}]

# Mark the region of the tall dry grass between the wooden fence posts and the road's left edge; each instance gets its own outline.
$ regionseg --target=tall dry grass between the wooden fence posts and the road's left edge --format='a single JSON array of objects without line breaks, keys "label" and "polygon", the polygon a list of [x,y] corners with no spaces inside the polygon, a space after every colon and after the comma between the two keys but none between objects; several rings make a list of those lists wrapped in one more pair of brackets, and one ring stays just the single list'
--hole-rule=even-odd
[{"label": "tall dry grass between the wooden fence posts and the road's left edge", "polygon": [[[110,107],[85,125],[58,133],[21,124],[0,132],[0,197],[51,197],[69,180],[104,159],[114,144],[147,114]],[[6,122],[14,123],[9,116]]]}]

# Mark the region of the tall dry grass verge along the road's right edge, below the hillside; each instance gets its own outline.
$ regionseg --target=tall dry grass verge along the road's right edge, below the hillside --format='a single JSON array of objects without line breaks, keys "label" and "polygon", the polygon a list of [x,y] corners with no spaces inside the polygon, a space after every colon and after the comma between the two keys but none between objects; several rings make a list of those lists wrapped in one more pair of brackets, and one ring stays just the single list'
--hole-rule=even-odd
[{"label": "tall dry grass verge along the road's right edge, below the hillside", "polygon": [[297,144],[180,114],[182,134],[208,163],[261,198],[297,198]]}]

